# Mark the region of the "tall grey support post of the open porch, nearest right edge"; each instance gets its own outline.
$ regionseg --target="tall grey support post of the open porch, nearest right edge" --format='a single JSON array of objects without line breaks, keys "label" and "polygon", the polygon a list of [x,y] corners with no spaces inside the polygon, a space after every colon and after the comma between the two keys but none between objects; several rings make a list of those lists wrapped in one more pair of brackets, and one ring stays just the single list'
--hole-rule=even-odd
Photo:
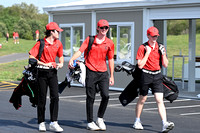
[{"label": "tall grey support post of the open porch, nearest right edge", "polygon": [[188,92],[195,92],[196,20],[189,20]]}]

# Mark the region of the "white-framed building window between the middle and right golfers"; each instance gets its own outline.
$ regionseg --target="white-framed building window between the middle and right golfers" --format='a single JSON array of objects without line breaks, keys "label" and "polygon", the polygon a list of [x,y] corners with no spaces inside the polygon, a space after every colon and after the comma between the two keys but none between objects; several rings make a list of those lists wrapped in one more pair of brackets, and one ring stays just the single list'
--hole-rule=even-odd
[{"label": "white-framed building window between the middle and right golfers", "polygon": [[115,44],[115,61],[134,63],[134,23],[110,22],[107,36]]}]

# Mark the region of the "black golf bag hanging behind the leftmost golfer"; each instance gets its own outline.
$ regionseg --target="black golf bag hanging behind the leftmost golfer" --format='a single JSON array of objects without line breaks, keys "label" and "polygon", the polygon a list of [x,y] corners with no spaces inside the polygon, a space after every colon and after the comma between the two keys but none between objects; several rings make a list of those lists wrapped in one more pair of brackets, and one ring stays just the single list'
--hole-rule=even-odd
[{"label": "black golf bag hanging behind the leftmost golfer", "polygon": [[9,100],[13,106],[18,110],[22,106],[22,96],[29,96],[29,101],[33,107],[38,103],[38,88],[37,88],[37,60],[29,59],[28,66],[25,66],[23,77],[20,84],[14,89],[12,96]]}]

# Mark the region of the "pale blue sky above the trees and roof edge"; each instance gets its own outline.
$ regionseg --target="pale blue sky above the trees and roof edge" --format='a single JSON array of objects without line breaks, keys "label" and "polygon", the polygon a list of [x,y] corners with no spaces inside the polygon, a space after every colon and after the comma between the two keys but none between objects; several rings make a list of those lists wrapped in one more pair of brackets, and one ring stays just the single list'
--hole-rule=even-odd
[{"label": "pale blue sky above the trees and roof edge", "polygon": [[68,2],[74,2],[78,0],[0,0],[0,5],[4,7],[10,7],[14,4],[21,4],[22,2],[27,3],[28,5],[34,4],[40,10],[40,13],[43,13],[42,7],[56,5],[56,4],[64,4]]}]

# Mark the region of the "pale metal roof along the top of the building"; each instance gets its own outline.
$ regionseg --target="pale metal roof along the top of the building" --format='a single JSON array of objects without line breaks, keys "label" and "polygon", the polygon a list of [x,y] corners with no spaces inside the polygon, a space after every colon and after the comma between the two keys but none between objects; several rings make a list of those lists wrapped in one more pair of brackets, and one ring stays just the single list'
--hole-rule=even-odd
[{"label": "pale metal roof along the top of the building", "polygon": [[78,0],[76,2],[68,2],[43,7],[44,11],[78,11],[78,10],[94,10],[104,8],[119,7],[152,7],[152,6],[171,6],[171,5],[195,5],[200,4],[200,0]]}]

